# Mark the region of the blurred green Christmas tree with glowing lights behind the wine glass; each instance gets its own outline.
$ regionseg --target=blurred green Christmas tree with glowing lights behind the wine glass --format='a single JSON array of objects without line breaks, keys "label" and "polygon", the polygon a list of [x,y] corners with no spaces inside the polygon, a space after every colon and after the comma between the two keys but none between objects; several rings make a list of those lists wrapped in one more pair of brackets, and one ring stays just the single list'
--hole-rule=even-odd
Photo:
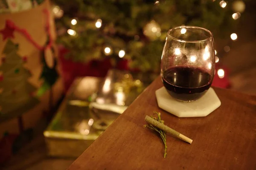
[{"label": "blurred green Christmas tree with glowing lights behind the wine glass", "polygon": [[78,62],[111,58],[117,68],[120,61],[128,60],[129,68],[141,71],[160,70],[170,28],[200,26],[212,31],[215,38],[224,39],[238,23],[232,18],[229,1],[54,1],[58,5],[53,8],[58,42],[70,51],[67,58]]}]

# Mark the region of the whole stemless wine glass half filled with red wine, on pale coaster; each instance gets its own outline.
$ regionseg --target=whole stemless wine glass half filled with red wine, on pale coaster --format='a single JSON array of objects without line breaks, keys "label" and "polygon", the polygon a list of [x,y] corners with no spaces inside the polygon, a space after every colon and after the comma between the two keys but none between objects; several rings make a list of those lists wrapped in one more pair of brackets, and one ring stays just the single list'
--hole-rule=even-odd
[{"label": "whole stemless wine glass half filled with red wine, on pale coaster", "polygon": [[192,102],[210,88],[215,74],[213,36],[205,28],[180,26],[168,31],[161,59],[161,77],[168,93]]}]

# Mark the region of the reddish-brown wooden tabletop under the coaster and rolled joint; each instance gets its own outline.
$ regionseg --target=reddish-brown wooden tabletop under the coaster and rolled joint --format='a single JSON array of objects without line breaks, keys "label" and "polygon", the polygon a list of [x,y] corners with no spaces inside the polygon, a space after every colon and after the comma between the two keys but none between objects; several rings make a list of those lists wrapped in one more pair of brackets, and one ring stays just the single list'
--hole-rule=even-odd
[{"label": "reddish-brown wooden tabletop under the coaster and rolled joint", "polygon": [[[256,96],[215,88],[220,108],[206,117],[178,118],[158,108],[155,90],[162,86],[158,77],[69,169],[256,169]],[[143,127],[152,111],[192,144],[167,136],[163,158],[160,137]]]}]

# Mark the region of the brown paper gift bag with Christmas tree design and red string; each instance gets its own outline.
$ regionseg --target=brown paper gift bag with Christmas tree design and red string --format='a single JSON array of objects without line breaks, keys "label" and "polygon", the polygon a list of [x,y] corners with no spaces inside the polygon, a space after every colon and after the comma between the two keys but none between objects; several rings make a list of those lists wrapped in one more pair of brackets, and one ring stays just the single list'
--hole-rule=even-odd
[{"label": "brown paper gift bag with Christmas tree design and red string", "polygon": [[[49,88],[55,84],[53,89],[56,85],[60,85],[60,83],[55,83],[58,76],[55,62],[57,55],[55,38],[55,26],[49,0],[44,0],[34,8],[0,14],[0,95],[5,95],[4,98],[2,97],[0,106],[7,108],[3,110],[6,113],[2,114],[11,112],[21,115],[25,113],[23,114],[25,127],[35,125],[42,116],[44,108],[49,105],[49,92],[37,96],[38,89],[42,85]],[[49,77],[49,73],[55,77]],[[31,89],[34,89],[34,93],[30,93]],[[24,92],[26,90],[31,98],[39,101],[38,104],[36,102],[35,105],[17,104],[29,98],[28,93]],[[59,96],[60,91],[61,89],[54,94]],[[16,104],[11,104],[14,102]],[[0,127],[0,137],[1,130],[13,131],[8,125],[3,126],[5,128]]]}]

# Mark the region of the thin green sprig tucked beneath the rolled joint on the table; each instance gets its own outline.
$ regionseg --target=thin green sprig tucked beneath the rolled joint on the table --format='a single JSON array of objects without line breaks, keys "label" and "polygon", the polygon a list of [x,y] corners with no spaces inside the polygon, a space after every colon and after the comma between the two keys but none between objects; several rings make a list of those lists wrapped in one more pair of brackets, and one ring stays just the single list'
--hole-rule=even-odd
[{"label": "thin green sprig tucked beneath the rolled joint on the table", "polygon": [[[156,113],[156,114],[157,114],[157,117],[151,116],[151,118],[153,118],[153,119],[157,120],[158,122],[164,124],[164,121],[161,119],[161,116],[160,116],[161,113],[155,112],[155,111],[154,111],[153,113]],[[163,130],[161,130],[161,129],[159,129],[158,127],[153,126],[153,125],[144,125],[144,127],[148,127],[149,129],[154,130],[154,131],[156,131],[157,133],[159,133],[161,139],[163,140],[163,144],[164,144],[164,154],[163,154],[163,157],[165,158],[165,157],[166,157],[166,154],[167,154],[167,153],[166,153],[166,151],[167,151],[166,132],[163,131]]]}]

